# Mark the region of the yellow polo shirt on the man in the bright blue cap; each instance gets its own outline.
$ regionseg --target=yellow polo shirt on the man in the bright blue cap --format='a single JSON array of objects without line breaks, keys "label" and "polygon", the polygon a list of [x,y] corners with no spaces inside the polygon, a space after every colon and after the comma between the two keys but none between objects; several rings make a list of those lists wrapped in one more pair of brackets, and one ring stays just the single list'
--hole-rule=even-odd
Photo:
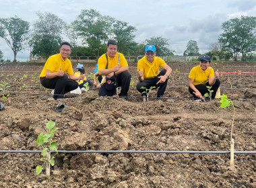
[{"label": "yellow polo shirt on the man in the bright blue cap", "polygon": [[154,57],[153,62],[149,62],[146,56],[143,56],[137,63],[137,71],[143,71],[144,79],[152,79],[159,74],[159,67],[166,64],[162,58]]}]

